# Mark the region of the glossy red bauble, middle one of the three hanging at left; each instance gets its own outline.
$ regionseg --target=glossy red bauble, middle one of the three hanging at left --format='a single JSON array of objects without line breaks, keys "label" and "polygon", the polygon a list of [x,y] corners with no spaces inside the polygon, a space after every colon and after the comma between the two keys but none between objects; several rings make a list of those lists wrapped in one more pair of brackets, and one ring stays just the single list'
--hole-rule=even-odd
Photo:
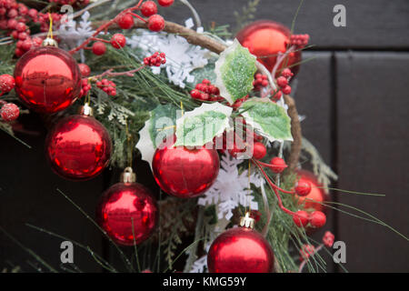
[{"label": "glossy red bauble, middle one of the three hanging at left", "polygon": [[99,175],[111,157],[111,137],[94,117],[63,118],[45,140],[46,156],[56,174],[72,180]]}]

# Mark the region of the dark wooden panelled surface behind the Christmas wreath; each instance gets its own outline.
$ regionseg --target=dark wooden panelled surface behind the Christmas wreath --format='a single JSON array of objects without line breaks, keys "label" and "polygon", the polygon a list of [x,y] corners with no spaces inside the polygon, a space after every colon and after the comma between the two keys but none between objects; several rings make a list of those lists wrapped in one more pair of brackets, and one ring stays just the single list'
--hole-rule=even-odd
[{"label": "dark wooden panelled surface behind the Christmas wreath", "polygon": [[[234,26],[233,12],[246,0],[192,0],[205,23]],[[291,25],[298,0],[261,0],[256,19]],[[334,27],[333,7],[346,7],[346,27]],[[183,23],[190,17],[181,5],[166,11],[167,19]],[[308,0],[294,32],[308,33],[314,48],[304,58],[294,95],[305,115],[303,131],[339,175],[334,187],[385,194],[385,197],[333,193],[335,202],[363,209],[409,236],[409,2],[407,0]],[[95,201],[116,176],[83,183],[55,176],[45,163],[45,129],[35,115],[20,121],[25,148],[0,133],[0,226],[53,266],[59,265],[61,239],[39,233],[30,223],[67,236],[109,256],[103,239],[89,221],[55,191],[63,190],[90,215]],[[141,164],[139,164],[141,165]],[[137,169],[150,186],[145,166]],[[347,246],[350,272],[408,272],[409,246],[384,226],[332,213],[328,227]],[[320,239],[322,232],[314,237]],[[0,234],[0,268],[35,262],[20,246]],[[100,271],[78,247],[75,264]],[[327,257],[329,271],[340,271]]]}]

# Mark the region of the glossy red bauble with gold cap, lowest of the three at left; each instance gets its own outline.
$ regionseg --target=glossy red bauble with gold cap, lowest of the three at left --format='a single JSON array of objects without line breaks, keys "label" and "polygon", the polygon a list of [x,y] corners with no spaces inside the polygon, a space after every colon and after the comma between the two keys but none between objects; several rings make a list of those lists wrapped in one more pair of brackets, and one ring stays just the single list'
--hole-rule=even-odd
[{"label": "glossy red bauble with gold cap, lowest of the three at left", "polygon": [[115,243],[124,246],[142,243],[151,236],[158,217],[155,198],[145,186],[138,183],[117,183],[111,186],[101,197],[96,209],[98,224]]}]

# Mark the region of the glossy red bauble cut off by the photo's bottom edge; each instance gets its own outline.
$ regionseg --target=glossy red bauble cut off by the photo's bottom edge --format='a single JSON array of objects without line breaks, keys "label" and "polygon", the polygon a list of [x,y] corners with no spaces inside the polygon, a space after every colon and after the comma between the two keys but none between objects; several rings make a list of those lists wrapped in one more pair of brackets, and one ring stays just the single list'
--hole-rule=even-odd
[{"label": "glossy red bauble cut off by the photo's bottom edge", "polygon": [[210,273],[271,273],[274,254],[264,236],[235,227],[218,236],[207,255]]}]

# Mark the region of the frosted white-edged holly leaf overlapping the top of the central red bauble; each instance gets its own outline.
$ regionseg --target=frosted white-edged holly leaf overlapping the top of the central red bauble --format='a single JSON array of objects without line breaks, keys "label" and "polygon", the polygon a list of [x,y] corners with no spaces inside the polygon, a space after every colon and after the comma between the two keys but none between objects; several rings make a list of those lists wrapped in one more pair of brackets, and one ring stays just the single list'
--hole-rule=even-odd
[{"label": "frosted white-edged holly leaf overlapping the top of the central red bauble", "polygon": [[220,103],[202,104],[176,120],[175,146],[204,146],[229,128],[232,107]]}]

